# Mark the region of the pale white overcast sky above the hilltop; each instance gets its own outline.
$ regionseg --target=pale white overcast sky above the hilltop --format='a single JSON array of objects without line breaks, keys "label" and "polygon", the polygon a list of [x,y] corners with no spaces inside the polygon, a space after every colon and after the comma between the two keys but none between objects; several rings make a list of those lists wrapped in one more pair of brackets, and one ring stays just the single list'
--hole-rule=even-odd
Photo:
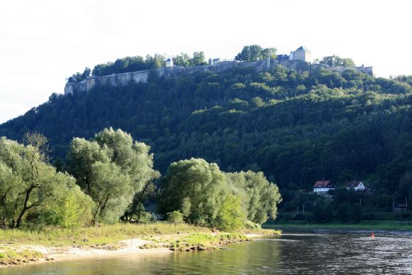
[{"label": "pale white overcast sky above the hilltop", "polygon": [[412,1],[146,0],[0,2],[0,123],[63,93],[66,78],[116,58],[244,45],[339,55],[376,75],[412,75]]}]

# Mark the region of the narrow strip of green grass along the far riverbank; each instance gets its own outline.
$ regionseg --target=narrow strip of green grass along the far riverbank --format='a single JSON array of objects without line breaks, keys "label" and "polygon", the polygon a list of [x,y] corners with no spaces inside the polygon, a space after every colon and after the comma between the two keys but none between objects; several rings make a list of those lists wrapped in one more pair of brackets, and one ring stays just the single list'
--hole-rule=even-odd
[{"label": "narrow strip of green grass along the far riverbank", "polygon": [[268,222],[262,227],[271,229],[344,229],[344,230],[412,230],[412,221],[371,220],[358,223],[325,222],[312,223],[306,221]]}]

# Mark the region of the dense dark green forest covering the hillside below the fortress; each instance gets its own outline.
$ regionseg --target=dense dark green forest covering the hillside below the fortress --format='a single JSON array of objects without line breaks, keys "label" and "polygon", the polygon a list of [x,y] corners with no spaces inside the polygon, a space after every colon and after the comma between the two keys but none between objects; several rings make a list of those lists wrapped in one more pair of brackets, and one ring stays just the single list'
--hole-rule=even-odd
[{"label": "dense dark green forest covering the hillside below the fortress", "polygon": [[225,172],[264,171],[286,208],[298,205],[298,190],[311,190],[316,180],[358,179],[374,192],[369,203],[384,210],[412,199],[411,85],[411,76],[300,74],[281,66],[179,79],[152,73],[147,83],[53,94],[1,124],[0,136],[44,134],[55,166],[65,169],[73,137],[91,139],[112,126],[151,146],[161,173],[192,157]]}]

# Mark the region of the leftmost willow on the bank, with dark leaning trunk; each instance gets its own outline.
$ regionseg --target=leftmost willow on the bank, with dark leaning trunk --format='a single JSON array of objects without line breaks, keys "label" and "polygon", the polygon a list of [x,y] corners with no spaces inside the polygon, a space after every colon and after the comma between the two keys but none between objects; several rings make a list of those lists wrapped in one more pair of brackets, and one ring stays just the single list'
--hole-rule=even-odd
[{"label": "leftmost willow on the bank, with dark leaning trunk", "polygon": [[[27,146],[5,137],[0,138],[0,220],[2,227],[21,227],[27,217],[39,217],[43,212],[65,211],[65,198],[73,195],[74,203],[81,208],[87,205],[87,196],[75,189],[75,179],[67,173],[56,172],[47,163],[45,146],[48,140],[40,134],[26,134]],[[31,214],[31,215],[29,215]],[[56,220],[55,225],[75,222],[85,225],[87,213],[65,220],[67,215]],[[33,222],[40,222],[33,218]]]}]

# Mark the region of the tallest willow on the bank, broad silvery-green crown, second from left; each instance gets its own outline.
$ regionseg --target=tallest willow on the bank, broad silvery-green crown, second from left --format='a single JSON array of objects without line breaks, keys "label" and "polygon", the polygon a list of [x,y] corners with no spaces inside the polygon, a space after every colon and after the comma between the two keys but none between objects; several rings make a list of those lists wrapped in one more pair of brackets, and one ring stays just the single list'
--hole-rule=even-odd
[{"label": "tallest willow on the bank, broad silvery-green crown, second from left", "polygon": [[92,141],[72,140],[68,170],[94,200],[94,222],[119,220],[134,196],[158,178],[149,150],[149,146],[134,141],[120,129],[104,129]]}]

